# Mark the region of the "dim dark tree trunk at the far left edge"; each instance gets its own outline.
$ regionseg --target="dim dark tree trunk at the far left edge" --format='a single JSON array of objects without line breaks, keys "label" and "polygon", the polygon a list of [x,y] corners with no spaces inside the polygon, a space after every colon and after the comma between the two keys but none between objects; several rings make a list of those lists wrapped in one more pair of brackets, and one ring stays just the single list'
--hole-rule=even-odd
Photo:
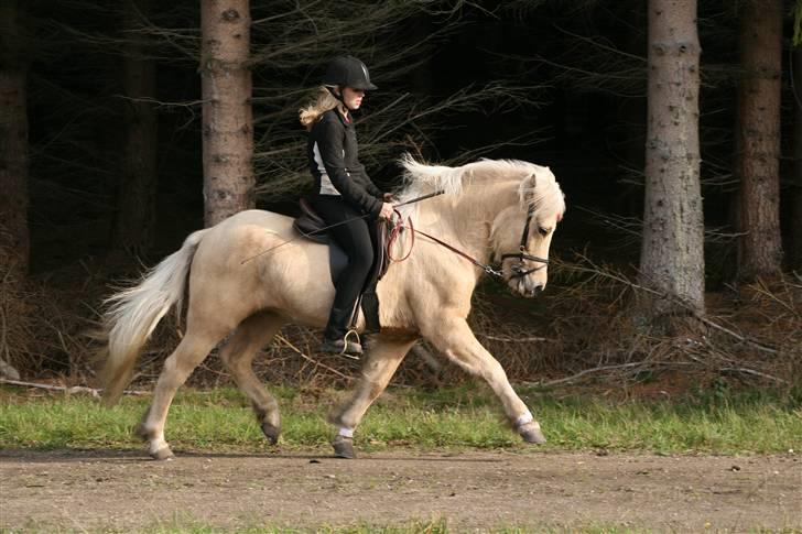
[{"label": "dim dark tree trunk at the far left edge", "polygon": [[0,275],[28,274],[28,92],[22,7],[0,2]]}]

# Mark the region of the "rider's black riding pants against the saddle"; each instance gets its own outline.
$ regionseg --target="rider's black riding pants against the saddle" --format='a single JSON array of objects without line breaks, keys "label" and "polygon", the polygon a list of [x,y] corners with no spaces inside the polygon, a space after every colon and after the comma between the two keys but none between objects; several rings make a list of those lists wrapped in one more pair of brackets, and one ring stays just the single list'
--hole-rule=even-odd
[{"label": "rider's black riding pants against the saddle", "polygon": [[348,257],[348,268],[335,284],[334,305],[324,333],[327,339],[342,339],[373,263],[371,220],[338,196],[321,195],[311,204],[326,226],[337,225],[328,232]]}]

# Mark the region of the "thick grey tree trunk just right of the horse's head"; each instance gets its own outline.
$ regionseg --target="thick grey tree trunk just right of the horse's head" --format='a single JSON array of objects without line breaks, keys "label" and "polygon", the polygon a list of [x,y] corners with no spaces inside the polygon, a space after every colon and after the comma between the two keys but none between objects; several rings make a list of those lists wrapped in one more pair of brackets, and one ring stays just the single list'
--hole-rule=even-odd
[{"label": "thick grey tree trunk just right of the horse's head", "polygon": [[704,313],[695,0],[649,1],[649,94],[640,318],[670,326]]}]

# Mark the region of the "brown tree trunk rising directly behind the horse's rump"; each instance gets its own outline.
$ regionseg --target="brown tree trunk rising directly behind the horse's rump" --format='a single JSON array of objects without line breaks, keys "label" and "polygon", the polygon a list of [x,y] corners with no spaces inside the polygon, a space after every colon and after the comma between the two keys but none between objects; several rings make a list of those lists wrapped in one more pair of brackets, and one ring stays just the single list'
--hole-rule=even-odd
[{"label": "brown tree trunk rising directly behind the horse's rump", "polygon": [[254,206],[248,0],[201,0],[204,220]]}]

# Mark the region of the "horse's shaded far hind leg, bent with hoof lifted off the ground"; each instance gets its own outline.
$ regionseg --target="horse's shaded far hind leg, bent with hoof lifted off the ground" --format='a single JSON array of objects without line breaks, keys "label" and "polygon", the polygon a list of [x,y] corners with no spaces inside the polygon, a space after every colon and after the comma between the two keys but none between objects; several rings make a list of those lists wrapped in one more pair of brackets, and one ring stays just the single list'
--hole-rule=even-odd
[{"label": "horse's shaded far hind leg, bent with hoof lifted off the ground", "polygon": [[239,389],[253,403],[259,425],[268,440],[275,445],[281,433],[279,404],[253,373],[253,357],[267,346],[283,326],[281,317],[262,313],[248,317],[240,323],[226,346],[220,350],[220,359],[234,375]]}]

